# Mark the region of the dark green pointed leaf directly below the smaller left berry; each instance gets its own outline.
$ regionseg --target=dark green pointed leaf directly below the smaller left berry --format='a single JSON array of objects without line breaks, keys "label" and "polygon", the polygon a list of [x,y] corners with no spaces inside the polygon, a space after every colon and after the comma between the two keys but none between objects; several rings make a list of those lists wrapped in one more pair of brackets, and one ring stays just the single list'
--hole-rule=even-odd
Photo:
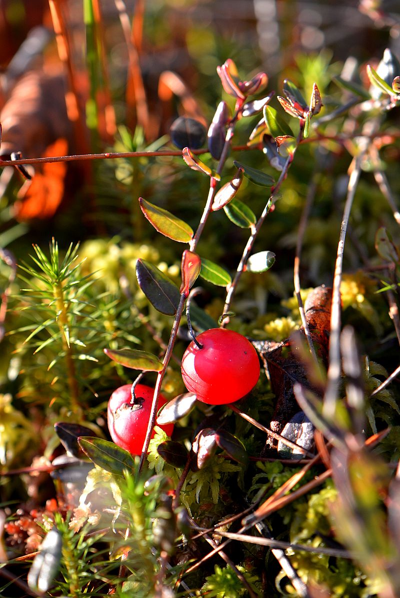
[{"label": "dark green pointed leaf directly below the smaller left berry", "polygon": [[95,465],[114,475],[123,475],[125,471],[135,472],[135,459],[125,449],[102,438],[81,436],[78,444]]}]

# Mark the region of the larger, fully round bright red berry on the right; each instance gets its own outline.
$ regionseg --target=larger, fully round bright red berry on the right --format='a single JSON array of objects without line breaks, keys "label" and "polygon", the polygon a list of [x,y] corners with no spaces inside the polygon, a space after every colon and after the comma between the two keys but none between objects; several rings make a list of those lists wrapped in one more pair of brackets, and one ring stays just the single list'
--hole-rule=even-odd
[{"label": "larger, fully round bright red berry on the right", "polygon": [[256,385],[260,364],[256,349],[244,336],[225,328],[211,328],[189,344],[182,358],[182,378],[199,401],[209,405],[232,403]]}]

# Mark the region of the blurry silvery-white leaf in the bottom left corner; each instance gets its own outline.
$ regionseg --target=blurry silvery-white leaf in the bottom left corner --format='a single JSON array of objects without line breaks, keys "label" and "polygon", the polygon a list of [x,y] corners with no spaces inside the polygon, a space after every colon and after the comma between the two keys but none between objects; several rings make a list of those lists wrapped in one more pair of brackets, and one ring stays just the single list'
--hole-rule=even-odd
[{"label": "blurry silvery-white leaf in the bottom left corner", "polygon": [[[40,545],[28,573],[28,585],[40,595],[54,585],[62,555],[62,535],[54,525]],[[35,594],[36,595],[36,594]]]}]

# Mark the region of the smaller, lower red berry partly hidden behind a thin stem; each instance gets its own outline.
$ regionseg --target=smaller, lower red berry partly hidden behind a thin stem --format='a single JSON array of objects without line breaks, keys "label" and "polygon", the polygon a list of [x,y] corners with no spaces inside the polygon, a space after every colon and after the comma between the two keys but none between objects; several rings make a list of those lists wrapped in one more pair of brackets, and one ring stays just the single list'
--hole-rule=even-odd
[{"label": "smaller, lower red berry partly hidden behind a thin stem", "polygon": [[[144,384],[137,384],[135,386],[137,404],[132,405],[131,388],[131,384],[120,386],[110,396],[107,408],[108,430],[114,443],[119,447],[131,454],[140,455],[149,425],[154,389]],[[165,396],[159,395],[158,408],[165,403]],[[171,436],[174,424],[169,423],[160,428]],[[155,432],[151,438],[154,434]]]}]

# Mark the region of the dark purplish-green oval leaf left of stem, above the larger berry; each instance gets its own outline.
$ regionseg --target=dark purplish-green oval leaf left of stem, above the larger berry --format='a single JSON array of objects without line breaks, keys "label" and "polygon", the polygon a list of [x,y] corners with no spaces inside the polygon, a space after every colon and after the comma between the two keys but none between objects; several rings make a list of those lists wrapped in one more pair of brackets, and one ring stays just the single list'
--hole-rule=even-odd
[{"label": "dark purplish-green oval leaf left of stem, above the larger berry", "polygon": [[180,292],[171,279],[146,260],[136,263],[136,277],[141,290],[158,312],[167,316],[177,313]]}]

